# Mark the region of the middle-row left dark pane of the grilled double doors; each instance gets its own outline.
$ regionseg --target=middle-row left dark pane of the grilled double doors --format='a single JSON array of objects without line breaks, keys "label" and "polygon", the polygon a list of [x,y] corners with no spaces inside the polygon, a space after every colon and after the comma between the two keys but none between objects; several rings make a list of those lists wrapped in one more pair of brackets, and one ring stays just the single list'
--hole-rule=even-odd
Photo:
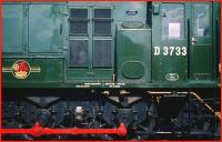
[{"label": "middle-row left dark pane of the grilled double doors", "polygon": [[70,22],[71,36],[88,36],[88,22],[85,21],[71,21]]}]

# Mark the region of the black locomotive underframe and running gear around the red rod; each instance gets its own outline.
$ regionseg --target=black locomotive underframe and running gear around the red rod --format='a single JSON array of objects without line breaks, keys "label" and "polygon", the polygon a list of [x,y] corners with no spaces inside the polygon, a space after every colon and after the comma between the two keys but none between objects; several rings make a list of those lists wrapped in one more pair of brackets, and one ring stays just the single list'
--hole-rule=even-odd
[{"label": "black locomotive underframe and running gear around the red rod", "polygon": [[[37,122],[42,128],[51,129],[113,129],[123,123],[127,135],[122,138],[118,133],[74,135],[48,133],[33,136],[24,133],[6,134],[3,138],[7,140],[220,139],[220,113],[216,112],[220,102],[219,90],[190,89],[189,92],[181,90],[6,89],[2,121],[4,129],[30,129]],[[202,93],[202,99],[193,91]]]}]

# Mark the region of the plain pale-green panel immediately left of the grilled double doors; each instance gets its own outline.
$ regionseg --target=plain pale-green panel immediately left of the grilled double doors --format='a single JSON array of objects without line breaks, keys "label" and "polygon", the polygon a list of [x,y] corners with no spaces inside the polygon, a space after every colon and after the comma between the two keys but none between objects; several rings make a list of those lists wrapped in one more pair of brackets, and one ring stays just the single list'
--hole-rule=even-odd
[{"label": "plain pale-green panel immediately left of the grilled double doors", "polygon": [[29,4],[29,52],[58,53],[63,47],[64,6]]}]

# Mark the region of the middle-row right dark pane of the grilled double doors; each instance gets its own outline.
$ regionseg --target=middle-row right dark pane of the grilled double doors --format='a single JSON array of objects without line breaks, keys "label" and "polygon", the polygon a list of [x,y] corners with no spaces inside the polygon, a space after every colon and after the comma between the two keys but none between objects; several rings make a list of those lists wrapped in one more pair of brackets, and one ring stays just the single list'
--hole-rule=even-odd
[{"label": "middle-row right dark pane of the grilled double doors", "polygon": [[94,36],[95,37],[110,37],[111,36],[111,21],[94,21]]}]

